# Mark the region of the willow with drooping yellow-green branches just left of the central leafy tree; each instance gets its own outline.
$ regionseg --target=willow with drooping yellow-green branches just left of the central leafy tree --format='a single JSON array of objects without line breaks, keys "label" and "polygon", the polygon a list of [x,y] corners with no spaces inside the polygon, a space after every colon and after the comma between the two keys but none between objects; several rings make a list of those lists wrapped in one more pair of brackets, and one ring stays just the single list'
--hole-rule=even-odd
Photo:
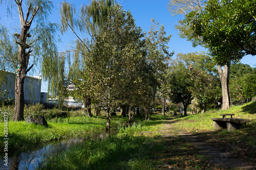
[{"label": "willow with drooping yellow-green branches just left of the central leafy tree", "polygon": [[98,93],[95,86],[92,86],[93,74],[88,60],[95,44],[95,34],[103,27],[109,9],[113,5],[113,0],[93,0],[89,5],[81,5],[80,12],[77,13],[73,4],[60,3],[61,33],[64,34],[70,29],[77,37],[65,52],[67,56],[72,54],[73,58],[67,77],[68,81],[76,87],[71,95],[74,99],[84,102],[90,117],[92,116],[92,99],[94,100],[94,95]]}]

